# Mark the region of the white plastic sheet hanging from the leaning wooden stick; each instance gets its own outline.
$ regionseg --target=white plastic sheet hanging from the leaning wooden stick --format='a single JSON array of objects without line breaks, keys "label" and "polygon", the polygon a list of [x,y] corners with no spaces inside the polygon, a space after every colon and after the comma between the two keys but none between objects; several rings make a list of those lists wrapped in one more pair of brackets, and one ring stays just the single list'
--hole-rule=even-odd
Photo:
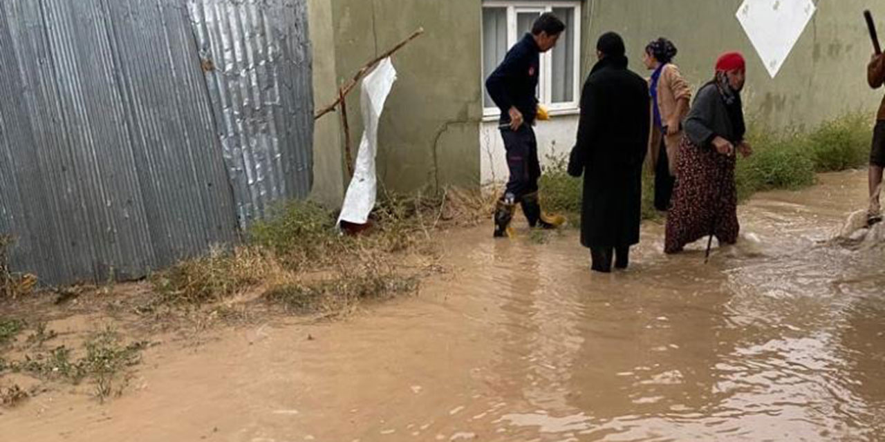
[{"label": "white plastic sheet hanging from the leaning wooden stick", "polygon": [[363,79],[363,90],[360,95],[363,124],[366,126],[363,139],[359,142],[357,164],[354,167],[350,187],[344,195],[341,215],[338,224],[347,221],[354,224],[366,224],[369,213],[375,205],[378,182],[375,178],[375,154],[378,151],[378,120],[384,102],[390,94],[390,88],[396,81],[396,69],[390,58],[381,61],[373,72]]}]

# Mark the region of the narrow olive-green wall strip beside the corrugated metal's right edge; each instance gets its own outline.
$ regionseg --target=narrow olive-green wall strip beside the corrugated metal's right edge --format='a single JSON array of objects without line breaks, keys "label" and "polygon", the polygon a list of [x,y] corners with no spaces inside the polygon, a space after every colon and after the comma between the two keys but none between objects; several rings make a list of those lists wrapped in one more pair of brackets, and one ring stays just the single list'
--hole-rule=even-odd
[{"label": "narrow olive-green wall strip beside the corrugated metal's right edge", "polygon": [[[335,101],[335,38],[332,1],[308,0],[308,32],[313,60],[313,101],[319,109]],[[327,207],[341,206],[344,196],[344,163],[341,126],[335,113],[319,118],[313,127],[313,188],[311,199]]]}]

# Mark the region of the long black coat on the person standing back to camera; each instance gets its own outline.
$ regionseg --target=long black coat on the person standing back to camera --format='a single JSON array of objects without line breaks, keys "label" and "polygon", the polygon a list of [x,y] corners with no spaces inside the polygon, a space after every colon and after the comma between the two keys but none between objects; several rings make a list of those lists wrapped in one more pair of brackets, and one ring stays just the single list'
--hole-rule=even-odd
[{"label": "long black coat on the person standing back to camera", "polygon": [[584,174],[581,244],[585,247],[639,242],[649,100],[648,84],[627,69],[626,57],[604,57],[584,83],[569,173]]}]

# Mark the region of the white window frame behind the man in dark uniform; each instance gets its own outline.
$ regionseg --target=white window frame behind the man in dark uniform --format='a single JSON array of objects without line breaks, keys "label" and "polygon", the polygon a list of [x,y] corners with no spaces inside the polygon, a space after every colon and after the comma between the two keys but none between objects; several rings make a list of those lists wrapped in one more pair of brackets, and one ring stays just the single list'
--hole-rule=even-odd
[{"label": "white window frame behind the man in dark uniform", "polygon": [[[553,55],[551,51],[541,54],[541,72],[538,72],[538,86],[541,96],[538,102],[542,103],[550,110],[553,115],[568,114],[578,110],[578,104],[581,99],[581,2],[577,0],[548,0],[546,2],[538,1],[507,1],[507,0],[486,0],[482,2],[483,8],[506,8],[507,9],[507,50],[510,50],[514,44],[519,42],[522,35],[517,34],[516,17],[519,12],[552,12],[553,8],[573,8],[574,9],[574,29],[569,29],[574,38],[574,63],[573,69],[573,92],[571,102],[550,103],[550,97],[553,95]],[[480,30],[480,50],[482,50],[482,42],[484,41],[485,29]],[[480,63],[485,63],[485,57],[480,56]],[[481,65],[481,72],[486,72],[485,65]],[[485,79],[481,80],[482,96],[486,94]],[[483,99],[483,103],[485,100]],[[487,119],[498,118],[501,110],[496,107],[484,107],[482,109],[483,117]]]}]

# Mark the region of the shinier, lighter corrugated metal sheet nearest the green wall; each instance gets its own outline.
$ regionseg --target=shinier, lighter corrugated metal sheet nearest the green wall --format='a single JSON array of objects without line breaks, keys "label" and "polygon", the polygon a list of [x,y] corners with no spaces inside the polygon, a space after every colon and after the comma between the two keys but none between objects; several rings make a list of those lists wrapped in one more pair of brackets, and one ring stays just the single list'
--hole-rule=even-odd
[{"label": "shinier, lighter corrugated metal sheet nearest the green wall", "polygon": [[304,0],[189,0],[241,223],[282,195],[307,196],[312,73]]}]

